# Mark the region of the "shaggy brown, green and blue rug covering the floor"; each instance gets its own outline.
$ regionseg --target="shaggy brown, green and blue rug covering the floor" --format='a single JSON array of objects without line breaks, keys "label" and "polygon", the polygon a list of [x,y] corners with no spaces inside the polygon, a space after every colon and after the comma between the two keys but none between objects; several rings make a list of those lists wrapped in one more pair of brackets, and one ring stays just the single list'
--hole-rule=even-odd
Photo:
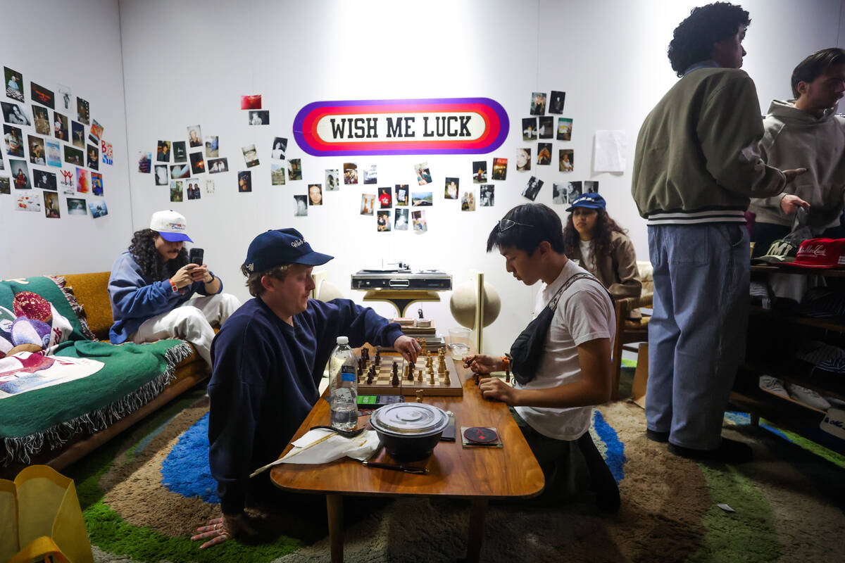
[{"label": "shaggy brown, green and blue rug covering the floor", "polygon": [[[325,522],[303,520],[293,506],[258,514],[259,544],[228,541],[200,551],[189,539],[219,512],[207,423],[208,399],[193,392],[64,472],[76,482],[95,560],[328,561]],[[751,445],[753,463],[674,457],[646,440],[639,407],[602,406],[591,432],[619,481],[619,513],[598,512],[589,496],[542,509],[492,503],[482,561],[842,560],[845,458],[788,432],[752,427],[743,414],[726,415],[725,427],[725,436]],[[352,507],[346,561],[458,560],[468,520],[460,500]]]}]

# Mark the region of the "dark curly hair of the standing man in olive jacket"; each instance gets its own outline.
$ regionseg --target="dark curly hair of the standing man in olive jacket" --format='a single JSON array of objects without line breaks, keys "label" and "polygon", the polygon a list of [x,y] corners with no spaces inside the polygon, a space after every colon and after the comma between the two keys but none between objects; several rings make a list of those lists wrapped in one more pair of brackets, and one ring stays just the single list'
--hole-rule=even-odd
[{"label": "dark curly hair of the standing man in olive jacket", "polygon": [[678,76],[696,62],[710,58],[713,45],[736,35],[740,25],[751,24],[748,12],[742,6],[716,2],[693,8],[673,32],[667,55],[672,69]]}]

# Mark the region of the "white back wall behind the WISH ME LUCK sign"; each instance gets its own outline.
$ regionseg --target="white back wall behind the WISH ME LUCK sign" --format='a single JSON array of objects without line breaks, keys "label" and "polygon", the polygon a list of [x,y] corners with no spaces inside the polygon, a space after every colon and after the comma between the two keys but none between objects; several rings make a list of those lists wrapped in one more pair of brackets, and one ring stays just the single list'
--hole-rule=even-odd
[{"label": "white back wall behind the WISH ME LUCK sign", "polygon": [[[248,242],[262,230],[292,226],[312,246],[336,256],[327,268],[330,279],[348,290],[359,268],[403,260],[414,268],[442,268],[455,283],[469,268],[482,269],[503,296],[503,311],[486,333],[487,350],[499,354],[527,322],[533,290],[504,272],[498,254],[484,252],[489,230],[508,209],[525,203],[520,193],[528,173],[515,171],[519,124],[527,116],[532,91],[567,92],[564,116],[574,118],[571,143],[555,141],[555,151],[575,149],[575,172],[556,166],[532,174],[546,181],[538,202],[551,203],[553,181],[601,181],[610,213],[630,229],[636,250],[647,256],[646,229],[630,198],[630,167],[642,119],[673,84],[666,47],[673,28],[689,14],[693,2],[641,0],[623,2],[554,2],[495,0],[427,3],[200,2],[121,0],[123,66],[127,107],[128,154],[154,151],[158,139],[185,140],[188,125],[199,123],[205,135],[220,137],[221,156],[230,171],[209,176],[214,197],[170,203],[168,189],[155,187],[151,175],[129,171],[134,225],[144,226],[150,213],[176,208],[187,215],[189,231],[206,250],[207,262],[224,279],[227,290],[248,297],[238,265]],[[755,78],[765,111],[771,98],[789,94],[794,65],[815,49],[837,45],[842,27],[842,0],[743,3],[751,24],[744,68]],[[249,127],[239,97],[264,96],[269,127]],[[305,155],[292,138],[292,120],[316,100],[366,100],[488,96],[509,112],[511,133],[503,147],[486,155],[510,160],[508,180],[496,185],[496,205],[461,213],[459,203],[445,201],[445,176],[471,185],[470,166],[480,156],[317,158]],[[628,165],[621,175],[591,175],[592,133],[596,129],[628,133]],[[289,138],[289,158],[303,159],[303,181],[270,186],[270,140]],[[261,165],[254,167],[253,192],[237,193],[237,170],[246,170],[241,147],[256,143]],[[533,154],[536,154],[536,143]],[[346,160],[359,170],[378,165],[376,186],[341,187],[324,194],[324,208],[308,218],[292,216],[292,194],[308,183],[323,182],[324,169]],[[358,215],[362,192],[397,183],[415,184],[412,165],[428,160],[433,173],[434,206],[427,208],[428,233],[379,234],[373,217]],[[206,175],[201,175],[206,176]],[[203,178],[204,179],[204,178]],[[372,189],[370,189],[372,188]],[[476,187],[477,190],[477,187]],[[477,193],[477,192],[476,192]],[[563,214],[563,208],[557,208]],[[129,225],[121,240],[128,241]],[[125,246],[123,242],[122,246]],[[121,246],[121,245],[118,245]],[[393,315],[391,306],[375,305]],[[425,305],[441,328],[454,324],[443,303]]]}]

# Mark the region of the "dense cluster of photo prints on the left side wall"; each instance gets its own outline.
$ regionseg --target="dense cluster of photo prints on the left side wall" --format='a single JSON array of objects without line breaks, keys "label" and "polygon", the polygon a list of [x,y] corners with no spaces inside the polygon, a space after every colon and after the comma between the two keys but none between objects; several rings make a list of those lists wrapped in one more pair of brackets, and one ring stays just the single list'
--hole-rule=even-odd
[{"label": "dense cluster of photo prints on the left side wall", "polygon": [[66,216],[89,209],[93,218],[108,214],[101,164],[113,165],[114,151],[89,101],[63,84],[30,81],[27,89],[24,74],[5,66],[3,84],[0,196],[46,219],[61,219],[63,210]]}]

